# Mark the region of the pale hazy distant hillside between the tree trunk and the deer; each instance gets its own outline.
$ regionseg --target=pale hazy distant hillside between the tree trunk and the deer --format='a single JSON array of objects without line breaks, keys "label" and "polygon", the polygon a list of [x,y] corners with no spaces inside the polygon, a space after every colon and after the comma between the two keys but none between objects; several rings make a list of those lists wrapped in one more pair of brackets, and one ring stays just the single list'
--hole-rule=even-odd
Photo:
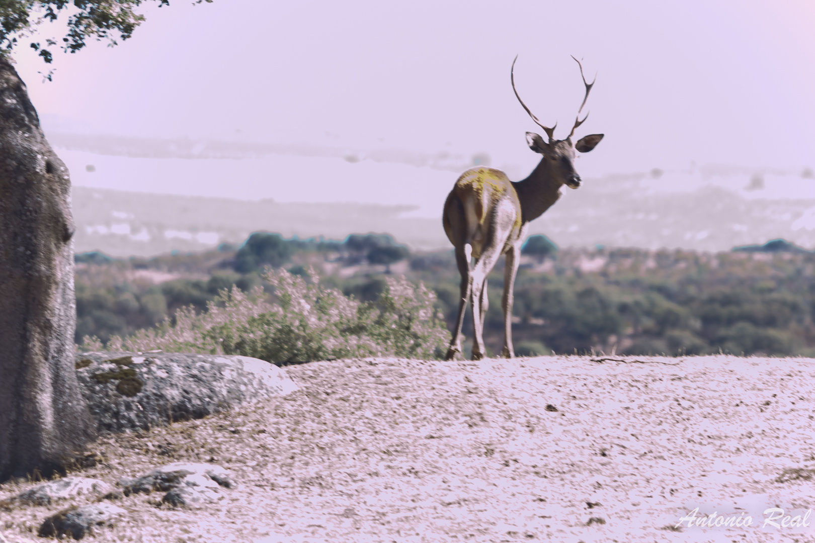
[{"label": "pale hazy distant hillside between the tree trunk and the deer", "polygon": [[441,220],[403,218],[412,206],[280,204],[73,187],[75,252],[152,256],[243,243],[265,230],[289,238],[388,233],[415,248],[444,247]]}]

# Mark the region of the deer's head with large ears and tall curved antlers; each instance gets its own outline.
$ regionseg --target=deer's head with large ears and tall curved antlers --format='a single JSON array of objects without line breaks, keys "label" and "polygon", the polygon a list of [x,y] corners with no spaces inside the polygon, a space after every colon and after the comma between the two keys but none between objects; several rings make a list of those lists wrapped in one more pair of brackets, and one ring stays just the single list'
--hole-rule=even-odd
[{"label": "deer's head with large ears and tall curved antlers", "polygon": [[[572,59],[575,59],[575,57],[572,57]],[[518,60],[518,56],[515,57],[515,60]],[[576,189],[580,186],[580,176],[575,170],[575,151],[588,153],[588,151],[591,151],[597,146],[597,143],[599,143],[605,135],[590,134],[588,136],[584,136],[584,138],[580,138],[576,143],[572,143],[571,141],[571,137],[575,135],[575,129],[577,129],[579,125],[582,125],[585,120],[588,119],[588,113],[586,113],[583,120],[580,120],[580,112],[583,111],[583,107],[586,105],[588,93],[591,92],[592,87],[594,86],[594,81],[591,83],[586,81],[586,77],[583,75],[583,65],[578,59],[575,59],[575,62],[580,67],[580,77],[583,77],[583,84],[586,87],[586,94],[583,98],[583,103],[580,104],[580,108],[577,110],[575,125],[571,127],[571,133],[568,135],[568,137],[566,137],[566,139],[555,139],[554,133],[555,129],[557,128],[557,123],[555,123],[552,128],[544,126],[530,111],[529,107],[526,107],[526,104],[523,103],[523,100],[518,95],[518,90],[515,89],[515,60],[512,61],[512,70],[509,72],[509,77],[512,81],[512,90],[515,92],[515,97],[518,98],[518,102],[520,102],[526,112],[529,113],[532,120],[534,120],[535,123],[540,126],[540,128],[544,129],[544,132],[549,138],[548,142],[544,142],[544,138],[541,138],[540,135],[533,132],[527,132],[526,142],[529,144],[529,148],[532,151],[544,155],[546,168],[555,182],[559,182],[561,185],[566,185],[572,189]]]}]

